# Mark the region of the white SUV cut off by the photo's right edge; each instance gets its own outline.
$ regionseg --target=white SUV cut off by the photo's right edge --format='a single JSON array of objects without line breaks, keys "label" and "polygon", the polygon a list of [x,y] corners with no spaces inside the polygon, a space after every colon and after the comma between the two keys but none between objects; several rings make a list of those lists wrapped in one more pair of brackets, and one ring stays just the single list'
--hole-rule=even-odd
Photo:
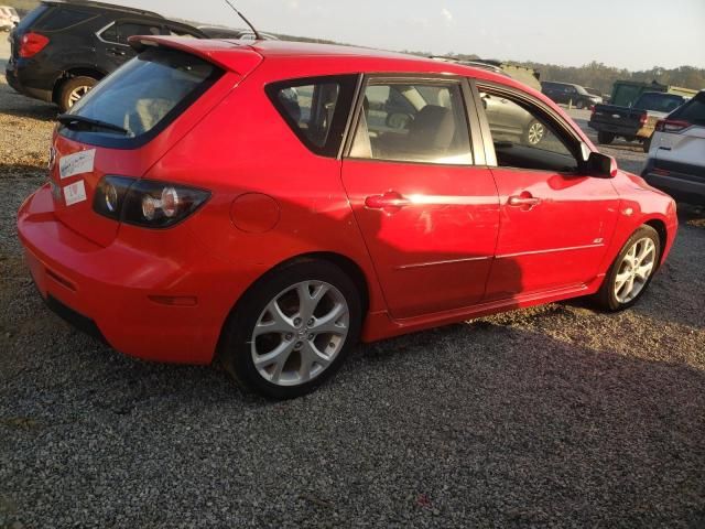
[{"label": "white SUV cut off by the photo's right edge", "polygon": [[705,205],[705,90],[657,123],[641,176],[676,199]]}]

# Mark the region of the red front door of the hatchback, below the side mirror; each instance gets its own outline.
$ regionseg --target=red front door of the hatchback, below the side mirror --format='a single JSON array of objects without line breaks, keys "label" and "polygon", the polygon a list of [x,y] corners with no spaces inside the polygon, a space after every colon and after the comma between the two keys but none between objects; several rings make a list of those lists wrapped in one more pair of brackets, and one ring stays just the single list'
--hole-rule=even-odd
[{"label": "red front door of the hatchback, below the side mirror", "polygon": [[478,83],[478,89],[510,101],[518,123],[538,121],[544,131],[538,143],[508,141],[481,116],[495,140],[487,148],[500,203],[486,300],[579,288],[597,276],[617,222],[611,182],[583,172],[579,140],[541,101],[497,85]]}]

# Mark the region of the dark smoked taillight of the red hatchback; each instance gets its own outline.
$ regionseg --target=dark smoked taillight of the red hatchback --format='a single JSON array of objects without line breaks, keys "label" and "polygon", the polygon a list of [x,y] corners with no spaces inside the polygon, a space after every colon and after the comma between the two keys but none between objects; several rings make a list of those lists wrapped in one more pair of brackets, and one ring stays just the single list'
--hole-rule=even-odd
[{"label": "dark smoked taillight of the red hatchback", "polygon": [[169,228],[193,214],[208,198],[205,190],[184,185],[105,176],[93,199],[99,215],[145,228]]}]

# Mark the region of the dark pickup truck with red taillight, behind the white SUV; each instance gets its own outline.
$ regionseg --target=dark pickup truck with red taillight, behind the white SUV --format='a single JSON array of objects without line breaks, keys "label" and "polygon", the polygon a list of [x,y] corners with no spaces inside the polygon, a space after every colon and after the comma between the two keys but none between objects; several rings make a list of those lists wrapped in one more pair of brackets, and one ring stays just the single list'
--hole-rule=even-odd
[{"label": "dark pickup truck with red taillight, behind the white SUV", "polygon": [[587,126],[597,131],[598,143],[611,143],[621,137],[627,141],[640,141],[644,152],[649,152],[657,121],[686,100],[676,94],[646,91],[631,107],[595,105]]}]

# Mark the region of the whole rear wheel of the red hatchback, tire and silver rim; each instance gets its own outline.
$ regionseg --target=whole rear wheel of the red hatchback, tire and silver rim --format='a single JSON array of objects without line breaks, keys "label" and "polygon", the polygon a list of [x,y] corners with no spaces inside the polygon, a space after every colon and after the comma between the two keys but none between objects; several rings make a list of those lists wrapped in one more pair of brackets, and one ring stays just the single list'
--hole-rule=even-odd
[{"label": "whole rear wheel of the red hatchback, tire and silver rim", "polygon": [[[306,292],[310,304],[302,307]],[[301,397],[335,375],[355,347],[361,306],[355,282],[335,264],[293,261],[267,273],[237,303],[220,363],[247,390],[271,399]]]}]

